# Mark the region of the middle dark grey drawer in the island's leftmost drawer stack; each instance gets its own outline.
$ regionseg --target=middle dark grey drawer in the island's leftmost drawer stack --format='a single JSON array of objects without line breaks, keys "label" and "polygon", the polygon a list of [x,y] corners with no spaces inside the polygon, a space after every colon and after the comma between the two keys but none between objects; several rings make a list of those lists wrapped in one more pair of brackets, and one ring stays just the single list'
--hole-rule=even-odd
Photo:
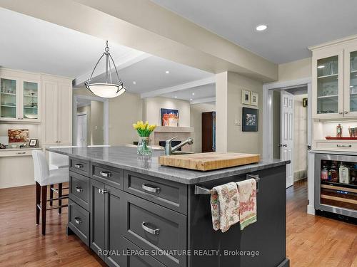
[{"label": "middle dark grey drawer in the island's leftmost drawer stack", "polygon": [[69,172],[69,198],[89,210],[90,181],[76,172]]}]

